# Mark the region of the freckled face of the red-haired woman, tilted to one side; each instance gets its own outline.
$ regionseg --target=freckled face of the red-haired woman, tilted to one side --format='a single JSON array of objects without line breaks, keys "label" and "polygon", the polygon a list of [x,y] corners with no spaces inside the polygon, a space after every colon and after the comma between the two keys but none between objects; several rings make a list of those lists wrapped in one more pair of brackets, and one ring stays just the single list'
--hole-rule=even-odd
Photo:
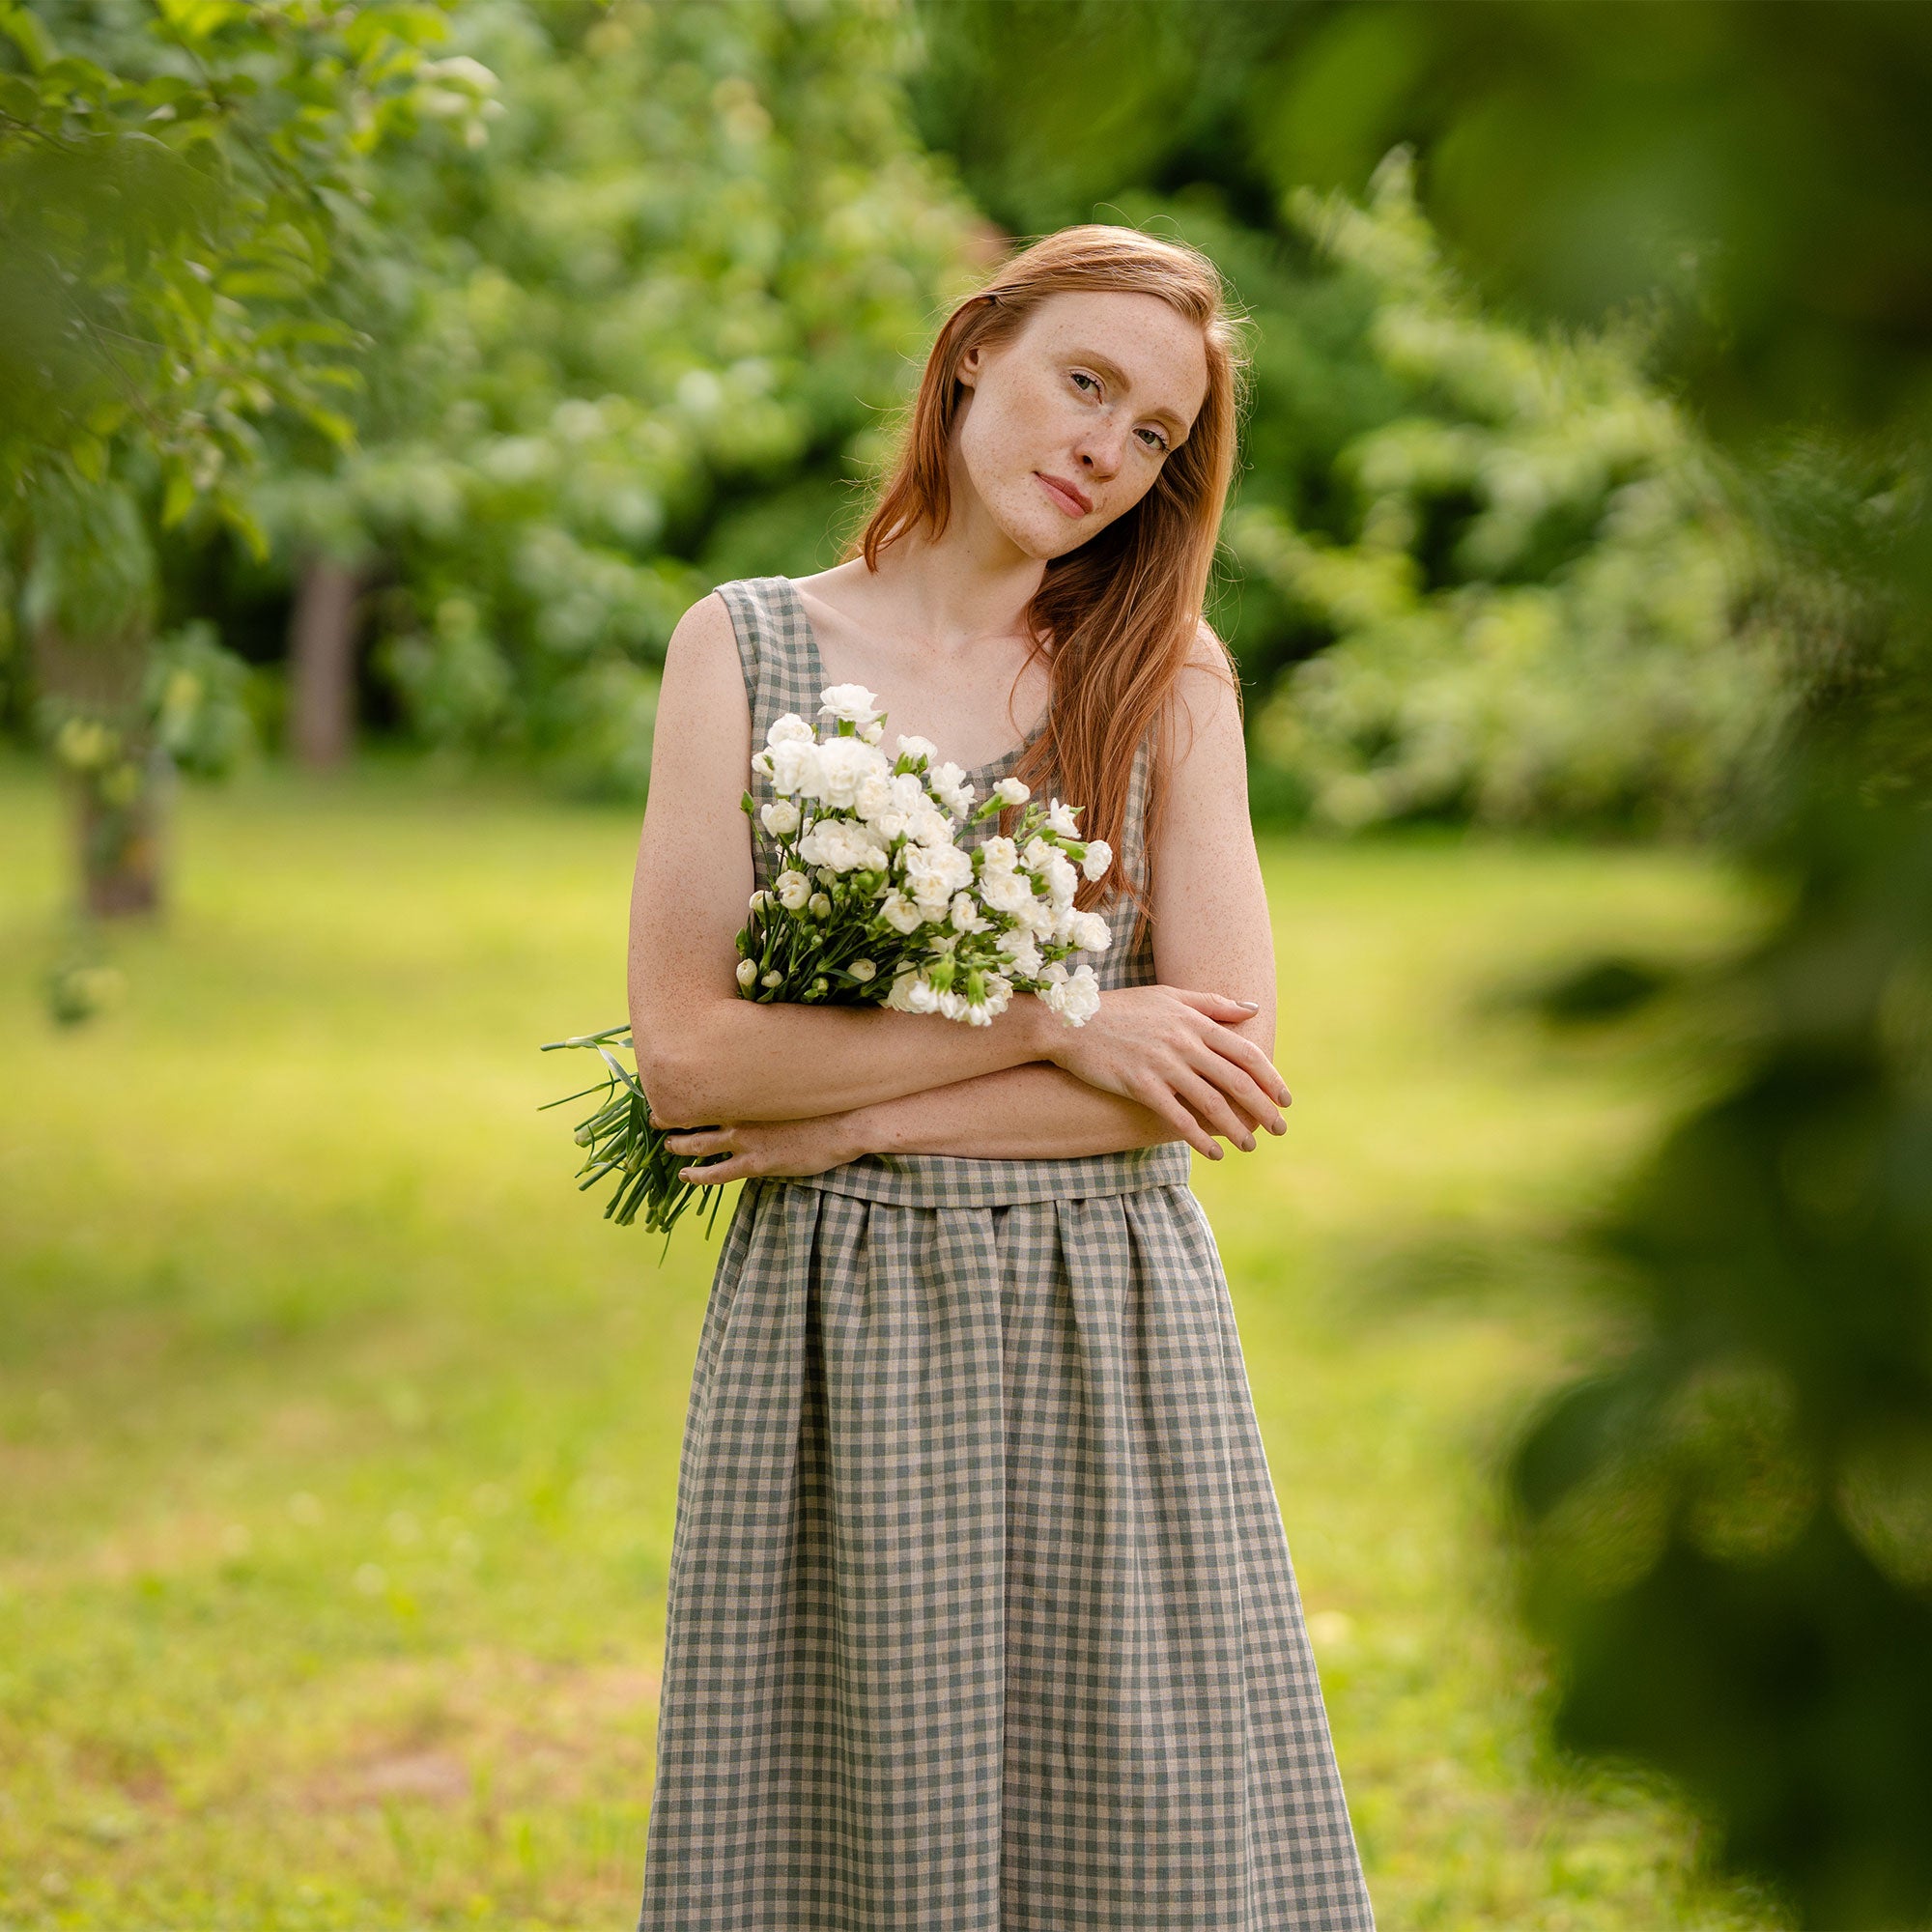
[{"label": "freckled face of the red-haired woman, tilted to one side", "polygon": [[1159,296],[1065,290],[958,375],[954,477],[1016,549],[1051,558],[1153,489],[1208,396],[1208,350]]}]

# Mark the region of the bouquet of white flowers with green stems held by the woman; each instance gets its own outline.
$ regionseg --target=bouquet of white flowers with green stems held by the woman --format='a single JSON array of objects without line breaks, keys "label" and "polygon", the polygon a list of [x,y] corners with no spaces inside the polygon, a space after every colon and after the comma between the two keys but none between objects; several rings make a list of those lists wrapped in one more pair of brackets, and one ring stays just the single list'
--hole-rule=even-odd
[{"label": "bouquet of white flowers with green stems held by the woman", "polygon": [[[991,1026],[1014,993],[1034,993],[1082,1026],[1099,983],[1092,966],[1068,970],[1066,960],[1105,951],[1111,933],[1099,914],[1074,908],[1074,893],[1082,873],[1107,871],[1113,852],[1080,837],[1080,808],[1041,806],[1018,779],[976,802],[960,767],[941,763],[923,738],[898,738],[896,755],[879,750],[885,715],[864,686],[819,696],[819,717],[831,721],[823,736],[786,713],[752,757],[777,796],[757,806],[746,792],[740,804],[753,837],[771,842],[777,877],[752,895],[738,933],[738,991],[968,1026]],[[1010,833],[958,844],[960,827],[1007,808],[1024,808]],[[645,1227],[668,1235],[703,1184],[678,1179],[688,1157],[665,1146],[636,1072],[611,1051],[630,1043],[628,1028],[612,1026],[545,1045],[591,1049],[607,1066],[603,1082],[549,1105],[603,1095],[576,1130],[585,1150],[578,1186],[616,1175],[605,1219],[628,1227],[643,1209]]]}]

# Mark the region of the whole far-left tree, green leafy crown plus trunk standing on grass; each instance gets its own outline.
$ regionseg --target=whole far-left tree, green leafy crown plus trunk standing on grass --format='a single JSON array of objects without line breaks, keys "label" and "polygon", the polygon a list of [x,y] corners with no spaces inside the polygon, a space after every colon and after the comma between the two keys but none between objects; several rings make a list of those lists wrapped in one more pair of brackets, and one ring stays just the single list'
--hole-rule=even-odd
[{"label": "whole far-left tree, green leafy crown plus trunk standing on grass", "polygon": [[187,721],[238,686],[207,634],[156,676],[153,529],[220,518],[259,543],[242,479],[261,419],[346,435],[352,334],[317,298],[365,156],[481,104],[475,77],[425,60],[440,27],[423,4],[0,0],[0,545],[19,593],[0,643],[73,781],[95,912],[158,902],[172,753],[213,769],[242,742],[236,715]]}]

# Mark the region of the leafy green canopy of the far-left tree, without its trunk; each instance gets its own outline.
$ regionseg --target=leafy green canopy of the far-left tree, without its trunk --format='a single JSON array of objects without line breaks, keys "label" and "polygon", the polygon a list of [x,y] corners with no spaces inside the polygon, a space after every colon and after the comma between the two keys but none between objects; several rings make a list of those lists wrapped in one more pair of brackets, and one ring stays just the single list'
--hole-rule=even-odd
[{"label": "leafy green canopy of the far-left tree, without its trunk", "polygon": [[317,309],[369,153],[481,95],[421,48],[437,6],[0,6],[0,491],[137,458],[160,520],[213,502],[290,410],[340,439],[348,330]]}]

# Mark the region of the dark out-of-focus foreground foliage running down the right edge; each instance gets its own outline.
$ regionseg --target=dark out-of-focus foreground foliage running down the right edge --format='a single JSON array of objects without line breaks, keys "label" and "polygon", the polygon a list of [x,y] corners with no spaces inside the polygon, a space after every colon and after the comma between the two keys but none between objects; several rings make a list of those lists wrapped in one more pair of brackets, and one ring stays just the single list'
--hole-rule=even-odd
[{"label": "dark out-of-focus foreground foliage running down the right edge", "polygon": [[1789,912],[1710,985],[1716,1095],[1594,1231],[1629,1347],[1515,1464],[1557,1731],[1683,1777],[1803,1922],[1924,1924],[1932,10],[1362,8],[1310,60],[1391,35],[1393,91],[1327,97],[1335,164],[1422,139],[1503,299],[1642,307],[1801,672],[1741,825]]}]

